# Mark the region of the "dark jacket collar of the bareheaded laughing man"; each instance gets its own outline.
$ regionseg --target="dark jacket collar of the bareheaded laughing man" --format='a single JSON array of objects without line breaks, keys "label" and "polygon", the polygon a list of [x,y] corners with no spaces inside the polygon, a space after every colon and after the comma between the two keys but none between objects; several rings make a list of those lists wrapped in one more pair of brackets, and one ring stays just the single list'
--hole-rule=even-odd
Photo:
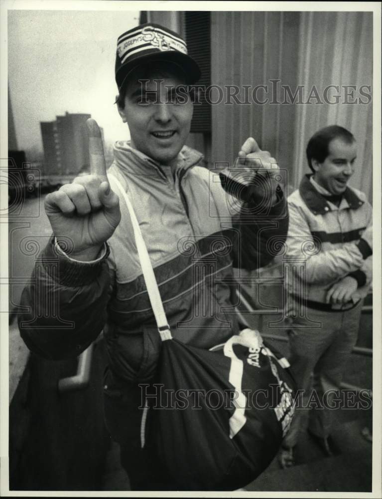
[{"label": "dark jacket collar of the bareheaded laughing man", "polygon": [[[299,192],[307,207],[314,215],[323,215],[324,213],[331,211],[332,208],[324,196],[320,194],[310,182],[309,179],[312,175],[313,174],[311,173],[304,175],[299,187]],[[347,201],[349,208],[352,208],[353,210],[357,210],[364,204],[350,187],[345,189],[343,198]]]}]

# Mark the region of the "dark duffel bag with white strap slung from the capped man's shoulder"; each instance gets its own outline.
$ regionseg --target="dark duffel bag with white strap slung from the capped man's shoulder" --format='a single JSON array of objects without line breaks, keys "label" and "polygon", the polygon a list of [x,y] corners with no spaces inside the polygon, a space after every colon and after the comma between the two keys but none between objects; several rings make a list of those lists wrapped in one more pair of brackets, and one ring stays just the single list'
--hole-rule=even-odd
[{"label": "dark duffel bag with white strap slung from the capped man's shoulder", "polygon": [[212,350],[172,337],[133,208],[113,180],[127,203],[162,340],[155,384],[163,396],[145,405],[141,445],[158,456],[175,489],[242,488],[267,468],[289,428],[295,390],[289,365],[249,328]]}]

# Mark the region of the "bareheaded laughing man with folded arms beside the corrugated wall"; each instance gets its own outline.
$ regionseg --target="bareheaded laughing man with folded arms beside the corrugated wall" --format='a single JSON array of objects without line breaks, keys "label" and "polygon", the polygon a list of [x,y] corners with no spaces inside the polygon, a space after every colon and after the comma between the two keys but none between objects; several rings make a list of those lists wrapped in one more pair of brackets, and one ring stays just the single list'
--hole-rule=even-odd
[{"label": "bareheaded laughing man with folded arms beside the corrugated wall", "polygon": [[[364,193],[348,186],[357,158],[349,130],[337,125],[319,130],[309,140],[306,155],[313,173],[305,175],[288,198],[286,257],[293,270],[285,281],[289,361],[304,407],[309,409],[313,401],[308,432],[331,456],[337,452],[331,408],[357,341],[363,298],[372,281],[372,207]],[[294,464],[302,416],[297,409],[284,439],[283,468]]]}]

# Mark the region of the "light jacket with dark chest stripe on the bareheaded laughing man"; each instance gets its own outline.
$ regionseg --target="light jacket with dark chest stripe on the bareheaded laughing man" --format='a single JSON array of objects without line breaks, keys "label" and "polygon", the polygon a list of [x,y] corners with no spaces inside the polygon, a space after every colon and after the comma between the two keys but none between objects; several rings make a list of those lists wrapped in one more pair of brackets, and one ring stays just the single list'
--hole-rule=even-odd
[{"label": "light jacket with dark chest stripe on the bareheaded laughing man", "polygon": [[319,308],[331,286],[350,274],[358,282],[355,300],[363,298],[372,282],[372,249],[361,237],[372,225],[372,207],[364,193],[350,187],[337,207],[310,177],[288,197],[286,259],[294,270],[285,275],[287,290]]}]

